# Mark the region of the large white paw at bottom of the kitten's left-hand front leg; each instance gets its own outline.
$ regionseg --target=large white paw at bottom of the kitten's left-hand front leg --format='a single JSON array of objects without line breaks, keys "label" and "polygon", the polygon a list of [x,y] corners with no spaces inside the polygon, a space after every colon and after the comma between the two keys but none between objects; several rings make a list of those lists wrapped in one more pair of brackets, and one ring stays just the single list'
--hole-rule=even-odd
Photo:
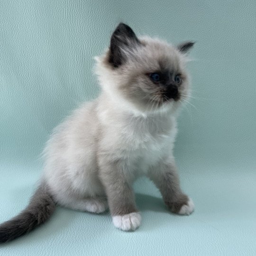
[{"label": "large white paw at bottom of the kitten's left-hand front leg", "polygon": [[114,226],[124,231],[135,230],[140,226],[141,217],[138,212],[132,212],[125,215],[113,216]]}]

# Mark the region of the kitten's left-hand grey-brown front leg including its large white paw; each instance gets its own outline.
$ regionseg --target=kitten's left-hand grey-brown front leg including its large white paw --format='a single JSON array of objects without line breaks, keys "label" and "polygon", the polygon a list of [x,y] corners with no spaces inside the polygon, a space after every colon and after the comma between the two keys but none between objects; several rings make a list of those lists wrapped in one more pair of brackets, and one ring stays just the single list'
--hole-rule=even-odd
[{"label": "kitten's left-hand grey-brown front leg including its large white paw", "polygon": [[137,229],[141,222],[131,187],[130,172],[122,161],[104,163],[100,168],[114,226],[125,231]]}]

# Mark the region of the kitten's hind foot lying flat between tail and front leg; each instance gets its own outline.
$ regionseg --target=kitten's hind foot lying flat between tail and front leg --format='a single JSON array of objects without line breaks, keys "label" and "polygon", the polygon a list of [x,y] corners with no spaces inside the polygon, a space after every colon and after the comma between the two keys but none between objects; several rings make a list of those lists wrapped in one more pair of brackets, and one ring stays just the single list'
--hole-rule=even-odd
[{"label": "kitten's hind foot lying flat between tail and front leg", "polygon": [[102,197],[87,197],[83,199],[69,199],[60,202],[61,205],[73,210],[101,213],[108,209],[108,202]]}]

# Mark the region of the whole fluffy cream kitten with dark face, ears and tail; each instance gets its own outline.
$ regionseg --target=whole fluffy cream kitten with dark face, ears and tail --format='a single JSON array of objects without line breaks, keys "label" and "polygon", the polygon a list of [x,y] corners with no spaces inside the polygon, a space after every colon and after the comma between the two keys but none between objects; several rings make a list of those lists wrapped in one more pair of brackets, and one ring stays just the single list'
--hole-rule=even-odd
[{"label": "whole fluffy cream kitten with dark face, ears and tail", "polygon": [[101,95],[55,128],[40,186],[25,210],[0,225],[0,242],[46,221],[56,203],[95,213],[109,207],[115,227],[137,229],[132,183],[143,174],[172,212],[193,211],[173,156],[177,110],[189,93],[185,53],[192,46],[138,38],[119,24],[109,50],[96,58]]}]

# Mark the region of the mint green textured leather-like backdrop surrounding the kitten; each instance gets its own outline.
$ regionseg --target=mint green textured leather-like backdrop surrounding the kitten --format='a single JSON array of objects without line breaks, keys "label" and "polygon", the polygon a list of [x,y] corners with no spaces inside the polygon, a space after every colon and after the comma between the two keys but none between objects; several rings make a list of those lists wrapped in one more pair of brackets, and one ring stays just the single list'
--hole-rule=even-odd
[{"label": "mint green textured leather-like backdrop surrounding the kitten", "polygon": [[93,56],[120,22],[174,44],[195,40],[191,103],[179,119],[175,156],[189,217],[170,214],[146,178],[135,183],[142,226],[58,208],[0,255],[255,255],[256,1],[1,0],[0,221],[36,188],[49,134],[97,97]]}]

